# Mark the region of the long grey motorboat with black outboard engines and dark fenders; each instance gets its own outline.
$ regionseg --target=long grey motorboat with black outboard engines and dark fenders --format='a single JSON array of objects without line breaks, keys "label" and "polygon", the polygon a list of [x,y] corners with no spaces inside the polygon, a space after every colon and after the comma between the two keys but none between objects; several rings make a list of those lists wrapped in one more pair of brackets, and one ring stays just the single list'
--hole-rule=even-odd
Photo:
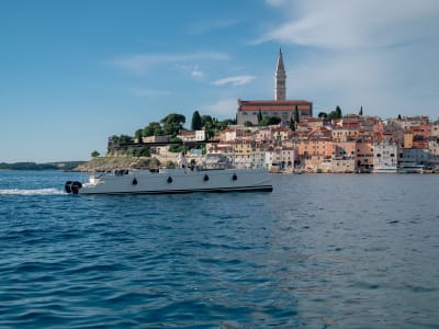
[{"label": "long grey motorboat with black outboard engines and dark fenders", "polygon": [[71,194],[167,194],[273,190],[267,169],[119,169],[91,174],[88,182],[65,183]]}]

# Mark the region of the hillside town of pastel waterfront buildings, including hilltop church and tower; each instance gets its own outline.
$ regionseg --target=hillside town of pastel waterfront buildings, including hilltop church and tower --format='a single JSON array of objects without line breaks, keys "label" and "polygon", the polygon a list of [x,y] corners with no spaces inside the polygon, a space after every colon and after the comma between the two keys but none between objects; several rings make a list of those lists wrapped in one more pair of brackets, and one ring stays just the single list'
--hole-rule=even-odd
[{"label": "hillside town of pastel waterfront buildings, including hilltop church and tower", "polygon": [[[198,114],[198,113],[196,113]],[[146,136],[145,136],[146,135]],[[274,100],[237,100],[236,120],[210,134],[206,126],[171,135],[138,134],[109,140],[108,156],[124,157],[148,147],[160,163],[178,163],[172,140],[185,145],[195,163],[224,158],[237,168],[271,172],[379,173],[439,172],[439,121],[425,115],[381,118],[363,113],[313,113],[313,103],[286,99],[286,72],[279,50]],[[203,147],[200,147],[203,145]]]}]

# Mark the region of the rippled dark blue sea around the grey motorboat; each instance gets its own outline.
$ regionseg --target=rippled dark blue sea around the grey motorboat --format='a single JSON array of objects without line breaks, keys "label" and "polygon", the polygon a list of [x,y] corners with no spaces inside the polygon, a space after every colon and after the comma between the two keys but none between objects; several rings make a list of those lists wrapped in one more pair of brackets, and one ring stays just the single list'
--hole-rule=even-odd
[{"label": "rippled dark blue sea around the grey motorboat", "polygon": [[439,175],[85,196],[0,172],[0,328],[439,328]]}]

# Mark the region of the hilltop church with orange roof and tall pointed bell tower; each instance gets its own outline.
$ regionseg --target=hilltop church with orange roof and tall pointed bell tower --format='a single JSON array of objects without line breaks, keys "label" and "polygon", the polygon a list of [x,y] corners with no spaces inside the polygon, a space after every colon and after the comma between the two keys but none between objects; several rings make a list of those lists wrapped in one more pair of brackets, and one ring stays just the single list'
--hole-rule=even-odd
[{"label": "hilltop church with orange roof and tall pointed bell tower", "polygon": [[236,120],[238,125],[244,125],[247,122],[256,125],[260,118],[274,116],[281,120],[281,125],[288,126],[294,118],[295,110],[297,110],[301,120],[313,116],[312,102],[286,100],[286,73],[282,52],[279,50],[274,73],[274,100],[244,101],[239,99]]}]

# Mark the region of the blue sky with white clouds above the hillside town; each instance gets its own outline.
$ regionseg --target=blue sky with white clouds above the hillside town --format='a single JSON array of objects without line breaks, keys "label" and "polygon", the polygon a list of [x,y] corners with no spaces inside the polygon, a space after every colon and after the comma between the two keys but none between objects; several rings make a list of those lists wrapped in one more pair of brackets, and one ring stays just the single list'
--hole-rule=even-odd
[{"label": "blue sky with white clouds above the hillside town", "polygon": [[437,0],[0,1],[0,162],[89,160],[170,113],[237,99],[439,116]]}]

